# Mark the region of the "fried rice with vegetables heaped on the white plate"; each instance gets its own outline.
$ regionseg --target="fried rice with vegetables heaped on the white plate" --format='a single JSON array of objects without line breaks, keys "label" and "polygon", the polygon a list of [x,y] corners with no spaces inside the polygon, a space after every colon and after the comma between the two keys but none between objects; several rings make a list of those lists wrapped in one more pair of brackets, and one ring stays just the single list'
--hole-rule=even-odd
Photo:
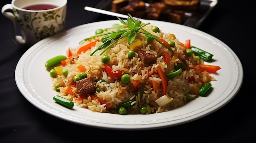
[{"label": "fried rice with vegetables heaped on the white plate", "polygon": [[[51,77],[53,90],[56,90],[54,85],[61,84],[61,87],[58,87],[58,95],[70,99],[75,103],[75,106],[89,109],[92,112],[114,114],[118,114],[118,108],[121,104],[132,99],[134,101],[126,107],[126,114],[141,114],[140,109],[142,107],[150,109],[147,114],[166,112],[184,106],[191,99],[196,99],[200,96],[198,90],[205,83],[216,79],[207,71],[200,69],[199,65],[204,64],[202,59],[198,59],[194,54],[192,56],[187,55],[185,48],[175,37],[175,33],[164,33],[161,30],[153,32],[152,28],[153,25],[149,24],[143,29],[165,41],[174,41],[175,46],[171,47],[174,52],[156,41],[148,44],[146,35],[137,33],[135,40],[132,42],[133,44],[140,41],[141,44],[137,46],[131,47],[132,44],[129,45],[127,38],[124,37],[102,55],[100,53],[103,49],[97,51],[94,55],[90,55],[98,46],[103,44],[101,42],[103,36],[99,36],[85,41],[79,47],[69,47],[72,56],[66,60],[65,65],[58,65],[61,69],[67,69],[68,74],[65,76],[58,74],[56,77]],[[117,29],[110,28],[107,31],[115,30]],[[79,48],[94,41],[96,42],[95,46],[91,46],[81,54],[76,54]],[[129,58],[128,52],[131,50],[135,51],[135,57]],[[145,51],[154,55],[157,59],[153,63],[145,64],[141,61],[137,51]],[[169,62],[166,61],[165,53],[170,57]],[[110,61],[106,65],[111,67],[112,71],[119,70],[122,75],[128,74],[130,76],[130,81],[127,84],[124,84],[120,77],[110,77],[108,75],[104,63],[101,61],[103,55],[110,57]],[[164,91],[165,85],[162,83],[164,79],[159,75],[157,67],[160,67],[164,73],[173,73],[175,72],[175,66],[180,63],[185,65],[182,72],[174,78],[167,79],[167,89]],[[97,89],[94,93],[79,94],[74,81],[74,76],[81,73],[81,70],[77,68],[78,66],[83,66],[85,68],[83,72],[92,79],[93,86]],[[140,89],[144,90],[142,94],[139,93]],[[156,102],[157,99],[163,96],[165,97],[164,101]]]}]

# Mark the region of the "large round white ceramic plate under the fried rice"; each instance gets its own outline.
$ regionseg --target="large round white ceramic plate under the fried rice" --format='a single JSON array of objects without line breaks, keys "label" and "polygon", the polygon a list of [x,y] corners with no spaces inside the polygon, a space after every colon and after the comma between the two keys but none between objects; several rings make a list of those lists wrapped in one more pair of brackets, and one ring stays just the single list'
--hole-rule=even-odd
[{"label": "large round white ceramic plate under the fried rice", "polygon": [[45,62],[56,55],[65,55],[68,47],[75,48],[85,37],[94,35],[98,28],[121,24],[119,20],[94,22],[76,26],[67,31],[45,38],[29,48],[20,58],[15,71],[16,84],[24,97],[34,106],[54,117],[95,128],[115,130],[145,130],[166,128],[200,119],[225,106],[238,92],[243,82],[243,67],[236,54],[225,43],[215,37],[188,26],[147,20],[165,33],[174,33],[184,42],[191,39],[191,45],[212,53],[214,62],[220,66],[218,74],[212,74],[213,90],[208,97],[198,97],[187,105],[157,114],[119,115],[91,112],[74,106],[65,108],[52,99],[57,93],[52,90],[52,80],[45,68]]}]

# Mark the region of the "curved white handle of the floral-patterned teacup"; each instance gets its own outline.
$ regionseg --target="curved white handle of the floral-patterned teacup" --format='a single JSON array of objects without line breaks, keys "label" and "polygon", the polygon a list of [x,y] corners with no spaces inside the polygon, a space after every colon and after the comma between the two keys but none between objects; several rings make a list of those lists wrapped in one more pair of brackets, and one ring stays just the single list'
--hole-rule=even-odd
[{"label": "curved white handle of the floral-patterned teacup", "polygon": [[8,12],[7,10],[13,10],[11,4],[5,4],[3,7],[2,7],[2,14],[9,18],[12,23],[13,23],[13,41],[16,43],[16,44],[25,44],[25,40],[22,36],[20,35],[16,35],[16,21],[15,21],[15,16],[13,13],[11,12]]}]

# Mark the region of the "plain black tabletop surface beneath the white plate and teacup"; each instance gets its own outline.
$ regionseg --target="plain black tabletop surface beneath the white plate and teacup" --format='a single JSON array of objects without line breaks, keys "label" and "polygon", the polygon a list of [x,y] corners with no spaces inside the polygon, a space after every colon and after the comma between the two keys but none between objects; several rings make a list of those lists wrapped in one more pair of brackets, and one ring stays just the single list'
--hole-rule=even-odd
[{"label": "plain black tabletop surface beneath the white plate and teacup", "polygon": [[[69,0],[65,29],[112,16],[85,11],[100,0]],[[11,0],[1,0],[0,6]],[[233,1],[232,1],[233,2]],[[220,0],[198,28],[227,44],[239,57],[244,71],[243,85],[224,107],[206,117],[169,128],[117,131],[91,128],[58,119],[32,105],[20,93],[14,79],[18,60],[29,47],[12,41],[11,20],[0,14],[0,143],[77,143],[89,141],[167,141],[196,143],[255,143],[255,23],[254,6],[249,2]],[[251,77],[249,77],[251,76]],[[252,81],[249,81],[252,79]]]}]

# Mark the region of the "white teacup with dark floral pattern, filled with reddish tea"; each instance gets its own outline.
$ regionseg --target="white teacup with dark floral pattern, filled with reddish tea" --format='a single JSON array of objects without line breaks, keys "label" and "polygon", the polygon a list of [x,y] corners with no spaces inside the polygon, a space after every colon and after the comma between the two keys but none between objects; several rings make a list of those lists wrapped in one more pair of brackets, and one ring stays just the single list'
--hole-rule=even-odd
[{"label": "white teacup with dark floral pattern, filled with reddish tea", "polygon": [[[12,0],[2,7],[2,14],[13,22],[13,41],[29,46],[62,31],[66,12],[67,0]],[[21,35],[16,34],[17,25]]]}]

